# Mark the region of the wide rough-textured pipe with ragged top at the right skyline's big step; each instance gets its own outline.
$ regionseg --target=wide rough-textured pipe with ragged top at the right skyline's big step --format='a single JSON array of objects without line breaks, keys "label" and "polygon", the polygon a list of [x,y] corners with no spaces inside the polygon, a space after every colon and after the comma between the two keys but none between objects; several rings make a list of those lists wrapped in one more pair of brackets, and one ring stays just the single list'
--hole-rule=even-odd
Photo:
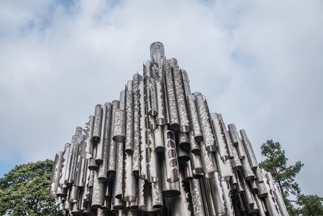
[{"label": "wide rough-textured pipe with ragged top at the right skyline's big step", "polygon": [[199,92],[194,92],[193,94],[195,96],[195,104],[199,115],[205,149],[209,152],[216,151],[216,141],[212,132],[206,100],[204,101],[202,94]]}]

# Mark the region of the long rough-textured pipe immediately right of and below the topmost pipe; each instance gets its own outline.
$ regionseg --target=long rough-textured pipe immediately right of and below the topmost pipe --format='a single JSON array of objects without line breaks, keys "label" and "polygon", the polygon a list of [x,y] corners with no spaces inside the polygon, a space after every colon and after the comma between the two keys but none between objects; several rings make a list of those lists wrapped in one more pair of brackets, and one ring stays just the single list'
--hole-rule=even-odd
[{"label": "long rough-textured pipe immediately right of and below the topmost pipe", "polygon": [[164,70],[165,70],[165,82],[166,82],[166,93],[167,93],[167,101],[169,107],[169,118],[170,118],[170,127],[172,129],[179,128],[179,118],[177,111],[177,103],[175,96],[175,87],[173,81],[172,67],[169,60],[164,62]]}]

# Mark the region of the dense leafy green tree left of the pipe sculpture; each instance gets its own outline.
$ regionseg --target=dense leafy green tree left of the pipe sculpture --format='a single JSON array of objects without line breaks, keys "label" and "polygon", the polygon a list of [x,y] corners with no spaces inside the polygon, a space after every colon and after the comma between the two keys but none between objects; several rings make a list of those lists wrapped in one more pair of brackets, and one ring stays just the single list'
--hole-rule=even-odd
[{"label": "dense leafy green tree left of the pipe sculpture", "polygon": [[48,194],[52,160],[16,165],[0,178],[0,215],[62,215]]}]

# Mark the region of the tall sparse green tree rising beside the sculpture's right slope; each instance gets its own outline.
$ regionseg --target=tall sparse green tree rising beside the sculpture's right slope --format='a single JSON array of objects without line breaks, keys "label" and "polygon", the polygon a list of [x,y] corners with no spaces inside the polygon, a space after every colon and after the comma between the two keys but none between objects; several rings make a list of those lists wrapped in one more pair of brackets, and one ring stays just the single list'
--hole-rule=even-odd
[{"label": "tall sparse green tree rising beside the sculpture's right slope", "polygon": [[264,168],[272,173],[273,179],[278,184],[281,194],[283,195],[285,205],[290,215],[298,215],[297,209],[291,204],[290,194],[297,198],[301,196],[301,189],[295,182],[295,177],[304,165],[301,161],[297,161],[294,165],[287,165],[288,159],[285,156],[285,151],[281,149],[279,142],[267,140],[261,146],[261,154],[266,159],[259,163],[260,168]]}]

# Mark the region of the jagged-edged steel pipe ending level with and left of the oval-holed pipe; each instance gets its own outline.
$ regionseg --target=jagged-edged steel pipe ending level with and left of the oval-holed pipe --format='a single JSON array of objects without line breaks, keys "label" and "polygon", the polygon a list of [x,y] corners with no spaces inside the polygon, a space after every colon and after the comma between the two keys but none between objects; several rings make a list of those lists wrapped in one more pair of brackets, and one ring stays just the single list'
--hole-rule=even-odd
[{"label": "jagged-edged steel pipe ending level with and left of the oval-holed pipe", "polygon": [[152,130],[146,131],[146,163],[147,163],[147,180],[148,182],[158,181],[157,154],[155,151],[155,139]]}]

